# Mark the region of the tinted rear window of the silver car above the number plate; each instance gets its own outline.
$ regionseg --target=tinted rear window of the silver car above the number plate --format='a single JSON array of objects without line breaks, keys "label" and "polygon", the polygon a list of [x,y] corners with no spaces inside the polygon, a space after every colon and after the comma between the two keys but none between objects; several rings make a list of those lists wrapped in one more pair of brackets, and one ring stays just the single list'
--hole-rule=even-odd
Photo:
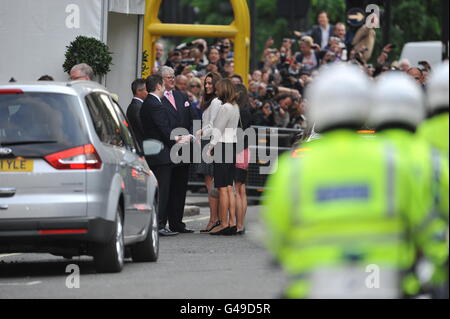
[{"label": "tinted rear window of the silver car above the number plate", "polygon": [[87,144],[78,103],[58,93],[0,94],[0,146],[42,157]]}]

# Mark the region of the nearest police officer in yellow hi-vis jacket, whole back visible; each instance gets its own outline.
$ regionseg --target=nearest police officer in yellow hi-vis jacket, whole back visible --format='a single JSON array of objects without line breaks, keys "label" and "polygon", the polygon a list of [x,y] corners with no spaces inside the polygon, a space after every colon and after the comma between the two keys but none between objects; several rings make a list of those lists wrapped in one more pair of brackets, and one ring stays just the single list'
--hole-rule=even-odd
[{"label": "nearest police officer in yellow hi-vis jacket, whole back visible", "polygon": [[395,147],[355,130],[367,121],[370,82],[355,66],[323,71],[307,91],[322,133],[270,177],[267,246],[290,277],[288,298],[396,298],[415,261],[408,165]]}]

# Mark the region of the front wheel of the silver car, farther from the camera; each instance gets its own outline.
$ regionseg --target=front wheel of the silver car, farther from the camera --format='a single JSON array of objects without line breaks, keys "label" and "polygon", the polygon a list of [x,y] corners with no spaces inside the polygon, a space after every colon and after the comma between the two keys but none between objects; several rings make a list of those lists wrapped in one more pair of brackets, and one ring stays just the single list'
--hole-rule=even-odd
[{"label": "front wheel of the silver car, farther from the camera", "polygon": [[158,213],[153,205],[153,213],[145,240],[131,247],[134,262],[155,262],[159,255]]}]

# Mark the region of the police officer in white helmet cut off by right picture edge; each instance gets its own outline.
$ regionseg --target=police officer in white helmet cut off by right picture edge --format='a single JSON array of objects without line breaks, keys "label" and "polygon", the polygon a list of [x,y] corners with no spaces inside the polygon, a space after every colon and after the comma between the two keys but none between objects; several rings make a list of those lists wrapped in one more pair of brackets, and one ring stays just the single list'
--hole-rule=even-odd
[{"label": "police officer in white helmet cut off by right picture edge", "polygon": [[449,64],[435,68],[428,84],[428,119],[421,125],[419,135],[440,149],[448,158],[449,139]]}]

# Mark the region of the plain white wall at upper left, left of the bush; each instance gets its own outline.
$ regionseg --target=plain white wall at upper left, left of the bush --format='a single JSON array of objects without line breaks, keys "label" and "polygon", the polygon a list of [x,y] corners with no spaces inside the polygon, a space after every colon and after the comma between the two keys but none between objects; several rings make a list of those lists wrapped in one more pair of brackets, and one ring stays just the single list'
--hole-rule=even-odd
[{"label": "plain white wall at upper left, left of the bush", "polygon": [[66,46],[78,35],[101,40],[102,0],[1,0],[0,82],[66,81]]}]

